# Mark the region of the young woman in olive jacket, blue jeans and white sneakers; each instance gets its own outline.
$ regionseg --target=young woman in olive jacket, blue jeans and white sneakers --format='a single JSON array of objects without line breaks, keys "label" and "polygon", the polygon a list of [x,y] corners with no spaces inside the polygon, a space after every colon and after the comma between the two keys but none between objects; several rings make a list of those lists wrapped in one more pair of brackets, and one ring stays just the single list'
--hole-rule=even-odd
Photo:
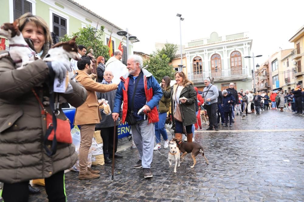
[{"label": "young woman in olive jacket, blue jeans and white sneakers", "polygon": [[163,91],[163,97],[158,103],[158,118],[159,121],[155,123],[155,139],[156,146],[154,150],[161,149],[161,135],[165,141],[164,148],[168,148],[169,141],[168,135],[165,128],[165,122],[167,118],[167,112],[170,108],[170,98],[171,98],[171,89],[170,89],[171,79],[168,76],[165,76],[161,80],[161,90]]}]

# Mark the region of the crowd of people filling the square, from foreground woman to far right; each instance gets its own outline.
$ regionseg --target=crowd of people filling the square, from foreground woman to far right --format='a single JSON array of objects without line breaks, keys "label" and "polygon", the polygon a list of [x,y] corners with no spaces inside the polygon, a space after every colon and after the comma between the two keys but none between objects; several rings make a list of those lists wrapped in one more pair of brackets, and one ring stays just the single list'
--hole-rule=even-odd
[{"label": "crowd of people filling the square, from foreground woman to far right", "polygon": [[[33,42],[29,46],[43,59],[53,43],[47,23],[28,13],[20,17],[19,30],[24,38]],[[3,53],[7,51],[0,54]],[[237,115],[259,114],[270,108],[283,111],[286,104],[291,104],[292,111],[302,113],[303,90],[300,83],[284,94],[281,91],[244,92],[243,89],[237,92],[233,83],[219,91],[209,79],[205,79],[206,87],[199,94],[182,71],[175,73],[176,83],[173,86],[170,86],[171,78],[168,76],[163,77],[159,84],[148,70],[143,69],[140,56],[129,56],[125,66],[120,61],[120,50],[116,50],[106,63],[104,56],[95,59],[93,50],[86,53],[87,48],[78,45],[79,61],[36,60],[20,70],[16,69],[9,55],[1,58],[0,181],[4,183],[2,197],[5,201],[27,201],[29,193],[37,193],[29,185],[29,180],[38,178],[45,179],[49,201],[66,201],[64,170],[71,168],[77,160],[75,146],[55,138],[45,139],[48,131],[61,128],[62,122],[68,121],[61,110],[66,103],[76,108],[73,124],[81,126],[79,180],[100,176],[99,170],[88,166],[94,131],[101,131],[105,163],[112,163],[112,156],[123,157],[116,154],[118,133],[115,126],[119,120],[129,123],[139,153],[133,168],[142,168],[144,178],[150,178],[153,176],[150,168],[153,151],[161,148],[161,136],[164,147],[168,148],[165,129],[168,117],[174,121],[175,138],[182,139],[185,133],[185,141],[192,142],[194,132],[203,129],[201,115],[209,117],[206,130],[218,131],[220,123],[228,127],[229,122],[232,127]],[[55,93],[52,80],[66,71],[77,73],[77,82],[70,81],[73,91]],[[60,102],[59,96],[65,102]],[[52,101],[61,104],[56,113]],[[105,101],[112,116],[103,113]],[[47,124],[50,116],[53,122],[57,120],[57,124]],[[113,145],[114,138],[116,142]],[[53,149],[52,154],[48,153],[50,148]]]}]

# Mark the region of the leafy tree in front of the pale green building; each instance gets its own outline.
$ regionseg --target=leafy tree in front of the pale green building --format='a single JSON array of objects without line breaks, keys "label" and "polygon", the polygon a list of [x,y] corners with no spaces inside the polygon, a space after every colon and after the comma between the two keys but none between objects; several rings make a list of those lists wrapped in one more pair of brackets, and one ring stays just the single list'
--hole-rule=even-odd
[{"label": "leafy tree in front of the pale green building", "polygon": [[72,36],[65,35],[60,38],[60,41],[68,41],[74,36],[78,36],[76,38],[77,45],[84,45],[87,47],[87,52],[92,48],[94,51],[94,56],[97,58],[98,56],[104,56],[105,60],[109,59],[109,48],[108,46],[103,44],[102,34],[104,33],[104,26],[101,26],[100,30],[92,26],[88,26],[86,28],[80,28],[79,32],[72,33]]}]

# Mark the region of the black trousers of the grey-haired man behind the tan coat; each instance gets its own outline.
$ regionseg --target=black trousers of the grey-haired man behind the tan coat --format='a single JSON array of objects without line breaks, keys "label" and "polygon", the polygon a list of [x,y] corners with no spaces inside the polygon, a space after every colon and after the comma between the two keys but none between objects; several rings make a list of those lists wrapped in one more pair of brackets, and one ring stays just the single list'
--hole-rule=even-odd
[{"label": "black trousers of the grey-haired man behind the tan coat", "polygon": [[[115,152],[117,151],[117,143],[118,143],[118,134],[117,134],[118,126],[116,126],[116,137],[115,137]],[[113,153],[113,135],[114,135],[114,126],[108,128],[95,128],[95,130],[100,130],[100,134],[102,137],[102,150],[103,156],[105,158],[112,158]]]}]

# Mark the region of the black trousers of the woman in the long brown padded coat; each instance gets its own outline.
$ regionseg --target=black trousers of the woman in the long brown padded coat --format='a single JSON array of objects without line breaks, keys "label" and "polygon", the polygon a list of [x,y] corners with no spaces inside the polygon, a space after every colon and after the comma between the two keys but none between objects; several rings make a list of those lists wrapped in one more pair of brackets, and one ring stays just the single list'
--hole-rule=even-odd
[{"label": "black trousers of the woman in the long brown padded coat", "polygon": [[[45,191],[49,202],[66,202],[64,171],[45,178]],[[5,202],[27,202],[29,200],[28,181],[4,183],[2,198]]]}]

